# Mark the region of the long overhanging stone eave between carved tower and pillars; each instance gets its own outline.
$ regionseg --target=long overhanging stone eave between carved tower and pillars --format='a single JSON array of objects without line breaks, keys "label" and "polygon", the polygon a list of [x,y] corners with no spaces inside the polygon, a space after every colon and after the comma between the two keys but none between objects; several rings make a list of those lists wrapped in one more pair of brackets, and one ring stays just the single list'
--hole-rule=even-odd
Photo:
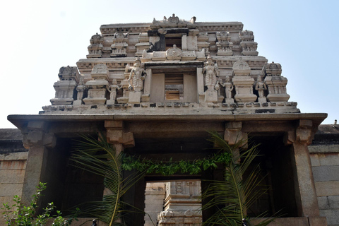
[{"label": "long overhanging stone eave between carved tower and pillars", "polygon": [[19,129],[28,121],[292,121],[309,119],[314,124],[321,124],[326,119],[326,113],[285,113],[285,114],[10,114],[8,121]]}]

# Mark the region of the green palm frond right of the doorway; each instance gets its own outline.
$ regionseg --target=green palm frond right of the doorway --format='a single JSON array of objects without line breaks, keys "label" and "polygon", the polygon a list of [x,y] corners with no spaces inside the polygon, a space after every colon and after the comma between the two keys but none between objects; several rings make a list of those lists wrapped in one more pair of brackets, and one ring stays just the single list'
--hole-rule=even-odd
[{"label": "green palm frond right of the doorway", "polygon": [[[216,212],[203,225],[243,225],[242,220],[246,219],[248,208],[260,196],[266,193],[267,187],[262,187],[263,178],[260,177],[260,167],[257,165],[244,179],[244,172],[248,169],[251,162],[258,156],[257,145],[247,150],[242,150],[242,142],[230,146],[218,134],[211,133],[211,141],[225,153],[231,156],[231,161],[225,164],[224,181],[213,181],[206,191],[203,191],[202,198],[209,199],[208,203],[203,205],[203,210],[213,208]],[[257,224],[256,226],[265,226],[274,219],[270,218]]]}]

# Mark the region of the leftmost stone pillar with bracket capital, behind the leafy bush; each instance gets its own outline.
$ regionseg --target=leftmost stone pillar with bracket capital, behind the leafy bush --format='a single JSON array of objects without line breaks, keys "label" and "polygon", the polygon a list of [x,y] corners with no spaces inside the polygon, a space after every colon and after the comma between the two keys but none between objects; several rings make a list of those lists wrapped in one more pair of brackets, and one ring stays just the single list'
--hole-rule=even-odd
[{"label": "leftmost stone pillar with bracket capital, behind the leafy bush", "polygon": [[39,182],[47,182],[47,148],[54,148],[56,143],[54,134],[47,132],[47,123],[44,121],[30,121],[27,129],[23,143],[29,151],[21,198],[21,203],[25,206],[30,205]]}]

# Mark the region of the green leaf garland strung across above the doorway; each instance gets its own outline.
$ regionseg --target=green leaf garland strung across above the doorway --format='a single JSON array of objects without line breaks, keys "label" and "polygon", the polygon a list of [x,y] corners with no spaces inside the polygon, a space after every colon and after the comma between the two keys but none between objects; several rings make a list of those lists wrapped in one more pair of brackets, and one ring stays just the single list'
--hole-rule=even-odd
[{"label": "green leaf garland strung across above the doorway", "polygon": [[157,160],[146,160],[141,159],[140,157],[133,157],[126,155],[123,159],[121,165],[122,169],[132,170],[136,169],[139,172],[146,173],[160,173],[164,176],[172,175],[177,172],[182,174],[199,174],[202,170],[209,168],[216,169],[218,163],[225,164],[230,162],[231,157],[229,153],[218,152],[216,154],[204,157],[197,160],[180,160],[178,162],[172,161],[172,158],[169,161],[157,161]]}]

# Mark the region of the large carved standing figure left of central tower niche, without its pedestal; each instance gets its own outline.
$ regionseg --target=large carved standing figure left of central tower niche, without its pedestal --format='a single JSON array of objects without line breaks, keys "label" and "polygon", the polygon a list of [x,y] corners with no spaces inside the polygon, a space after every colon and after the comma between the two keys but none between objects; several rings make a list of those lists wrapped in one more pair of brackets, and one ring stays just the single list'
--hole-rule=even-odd
[{"label": "large carved standing figure left of central tower niche, without its pedestal", "polygon": [[129,90],[133,90],[135,92],[140,92],[143,90],[143,80],[145,80],[145,70],[141,68],[140,59],[136,59],[136,63],[129,74]]}]

